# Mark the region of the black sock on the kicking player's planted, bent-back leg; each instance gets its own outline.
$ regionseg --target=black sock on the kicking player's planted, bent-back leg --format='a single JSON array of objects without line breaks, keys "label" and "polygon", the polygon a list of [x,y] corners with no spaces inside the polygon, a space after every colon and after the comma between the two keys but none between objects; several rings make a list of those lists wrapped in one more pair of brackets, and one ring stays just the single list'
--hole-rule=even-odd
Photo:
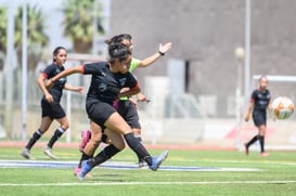
[{"label": "black sock on the kicking player's planted, bent-back leg", "polygon": [[89,159],[88,164],[91,167],[99,166],[119,152],[120,152],[120,149],[118,149],[113,144],[111,144],[111,145],[106,146],[103,151],[101,151],[95,157]]}]

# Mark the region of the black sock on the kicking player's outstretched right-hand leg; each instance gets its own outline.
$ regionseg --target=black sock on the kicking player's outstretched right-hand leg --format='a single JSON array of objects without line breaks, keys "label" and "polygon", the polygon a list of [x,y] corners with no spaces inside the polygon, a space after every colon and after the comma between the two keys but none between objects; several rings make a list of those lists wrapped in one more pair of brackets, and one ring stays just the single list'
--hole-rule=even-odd
[{"label": "black sock on the kicking player's outstretched right-hand leg", "polygon": [[152,157],[146,148],[133,136],[133,133],[125,134],[128,146],[141,158],[144,159],[149,166],[152,165]]}]

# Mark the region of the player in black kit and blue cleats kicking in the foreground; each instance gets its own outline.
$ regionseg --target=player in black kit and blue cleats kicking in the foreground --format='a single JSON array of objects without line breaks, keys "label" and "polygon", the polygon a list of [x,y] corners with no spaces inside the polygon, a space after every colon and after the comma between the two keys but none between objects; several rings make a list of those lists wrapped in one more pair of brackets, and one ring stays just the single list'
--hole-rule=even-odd
[{"label": "player in black kit and blue cleats kicking in the foreground", "polygon": [[[83,180],[92,168],[106,161],[125,147],[121,135],[129,147],[143,158],[153,171],[158,169],[168,154],[168,152],[164,152],[158,157],[152,157],[134,138],[132,129],[113,107],[115,100],[137,94],[140,92],[140,88],[136,78],[128,71],[132,58],[129,48],[121,43],[110,44],[108,53],[110,62],[72,67],[53,77],[48,83],[50,86],[57,79],[72,74],[92,75],[86,102],[92,136],[82,152],[82,168],[77,174],[79,180]],[[112,144],[92,158],[103,133],[107,135]]]}]

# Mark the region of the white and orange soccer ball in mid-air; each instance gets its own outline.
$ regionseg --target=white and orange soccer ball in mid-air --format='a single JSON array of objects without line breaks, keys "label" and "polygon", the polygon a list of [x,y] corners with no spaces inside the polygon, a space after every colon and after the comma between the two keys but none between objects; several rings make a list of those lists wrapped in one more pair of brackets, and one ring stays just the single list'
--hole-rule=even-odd
[{"label": "white and orange soccer ball in mid-air", "polygon": [[294,103],[289,97],[279,96],[272,102],[271,108],[278,119],[287,119],[294,113]]}]

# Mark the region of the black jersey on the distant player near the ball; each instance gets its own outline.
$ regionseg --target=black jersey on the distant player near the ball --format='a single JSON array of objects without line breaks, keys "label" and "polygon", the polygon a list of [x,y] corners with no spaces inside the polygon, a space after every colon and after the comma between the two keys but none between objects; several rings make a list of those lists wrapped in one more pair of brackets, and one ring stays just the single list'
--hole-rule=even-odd
[{"label": "black jersey on the distant player near the ball", "polygon": [[266,112],[270,102],[269,90],[255,90],[252,93],[252,102],[254,102],[254,110]]}]

